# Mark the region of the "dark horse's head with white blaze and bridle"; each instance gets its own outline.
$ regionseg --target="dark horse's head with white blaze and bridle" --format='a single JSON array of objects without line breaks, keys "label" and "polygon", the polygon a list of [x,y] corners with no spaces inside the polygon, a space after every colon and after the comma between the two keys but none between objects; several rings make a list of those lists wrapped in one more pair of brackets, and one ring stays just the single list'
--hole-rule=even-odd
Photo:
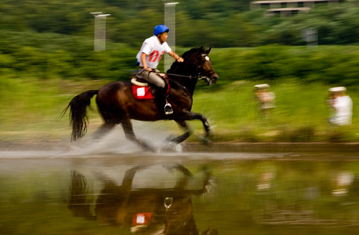
[{"label": "dark horse's head with white blaze and bridle", "polygon": [[201,47],[197,54],[196,67],[198,71],[198,77],[206,79],[209,86],[215,84],[218,79],[218,74],[212,67],[211,59],[208,54],[211,51],[209,48],[207,51]]}]

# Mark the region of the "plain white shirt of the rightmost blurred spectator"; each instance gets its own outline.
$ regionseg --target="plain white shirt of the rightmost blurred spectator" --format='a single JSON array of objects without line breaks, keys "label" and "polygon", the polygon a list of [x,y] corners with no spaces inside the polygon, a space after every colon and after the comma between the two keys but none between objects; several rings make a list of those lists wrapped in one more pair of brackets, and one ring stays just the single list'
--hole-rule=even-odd
[{"label": "plain white shirt of the rightmost blurred spectator", "polygon": [[335,116],[332,122],[337,125],[351,124],[353,101],[349,96],[340,96],[334,99],[333,104]]}]

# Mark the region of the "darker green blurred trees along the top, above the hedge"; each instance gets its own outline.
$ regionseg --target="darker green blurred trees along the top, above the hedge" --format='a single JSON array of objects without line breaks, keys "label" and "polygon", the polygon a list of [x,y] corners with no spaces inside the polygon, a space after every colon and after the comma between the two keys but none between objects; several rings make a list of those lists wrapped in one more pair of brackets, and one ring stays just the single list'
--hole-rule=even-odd
[{"label": "darker green blurred trees along the top, above the hedge", "polygon": [[[179,1],[176,44],[217,48],[267,44],[298,46],[305,45],[302,30],[306,28],[318,31],[320,45],[358,44],[356,0],[316,5],[309,14],[293,17],[264,17],[264,9],[249,11],[249,3],[249,0]],[[152,34],[153,27],[163,24],[164,20],[161,0],[3,0],[0,24],[2,30],[92,37],[94,17],[90,12],[111,14],[107,18],[107,39],[135,48],[141,47],[143,40]]]}]

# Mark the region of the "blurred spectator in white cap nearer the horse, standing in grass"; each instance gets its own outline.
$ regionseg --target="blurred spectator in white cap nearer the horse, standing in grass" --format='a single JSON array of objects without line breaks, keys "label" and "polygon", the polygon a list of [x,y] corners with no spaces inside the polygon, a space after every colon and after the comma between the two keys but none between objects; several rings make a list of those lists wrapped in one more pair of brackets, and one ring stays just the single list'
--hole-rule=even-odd
[{"label": "blurred spectator in white cap nearer the horse, standing in grass", "polygon": [[254,86],[255,96],[259,103],[259,110],[267,115],[275,108],[275,94],[269,92],[268,84],[259,84]]}]

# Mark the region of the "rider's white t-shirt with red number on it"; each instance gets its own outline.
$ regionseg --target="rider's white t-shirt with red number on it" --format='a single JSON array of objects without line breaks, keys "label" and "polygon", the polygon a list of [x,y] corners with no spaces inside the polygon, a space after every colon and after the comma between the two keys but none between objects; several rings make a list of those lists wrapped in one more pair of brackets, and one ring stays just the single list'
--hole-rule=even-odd
[{"label": "rider's white t-shirt with red number on it", "polygon": [[147,55],[147,66],[151,69],[156,69],[162,55],[164,53],[167,54],[170,51],[172,51],[172,49],[168,46],[166,41],[161,44],[155,35],[147,38],[142,44],[141,50],[139,50],[136,56],[137,61],[139,62],[139,67],[143,67],[143,64],[141,62],[142,53],[145,53]]}]

